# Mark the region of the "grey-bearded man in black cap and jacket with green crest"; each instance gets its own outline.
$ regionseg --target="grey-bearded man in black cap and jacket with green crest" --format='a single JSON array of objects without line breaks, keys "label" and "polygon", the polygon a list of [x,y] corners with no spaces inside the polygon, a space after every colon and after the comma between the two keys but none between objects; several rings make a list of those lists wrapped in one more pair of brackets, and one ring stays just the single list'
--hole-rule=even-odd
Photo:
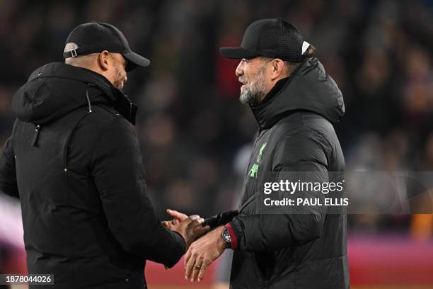
[{"label": "grey-bearded man in black cap and jacket with green crest", "polygon": [[[221,48],[222,55],[241,59],[236,69],[243,84],[240,100],[249,104],[259,129],[241,205],[205,221],[212,231],[185,254],[185,278],[202,280],[207,266],[231,248],[233,289],[350,287],[342,208],[330,213],[321,205],[307,205],[301,213],[269,214],[262,203],[270,176],[277,181],[283,176],[292,182],[342,181],[345,161],[332,124],[342,118],[345,107],[314,50],[281,18],[255,21],[241,47]],[[287,172],[294,172],[296,179]],[[320,191],[297,196],[323,200]]]}]

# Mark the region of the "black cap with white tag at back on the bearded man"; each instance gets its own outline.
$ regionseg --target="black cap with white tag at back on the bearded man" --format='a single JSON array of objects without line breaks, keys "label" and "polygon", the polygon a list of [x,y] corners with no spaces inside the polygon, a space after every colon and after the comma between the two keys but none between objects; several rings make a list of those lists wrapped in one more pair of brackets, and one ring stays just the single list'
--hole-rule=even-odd
[{"label": "black cap with white tag at back on the bearded man", "polygon": [[301,62],[309,45],[294,25],[282,18],[271,18],[251,23],[240,47],[221,47],[219,51],[233,59],[264,56]]}]

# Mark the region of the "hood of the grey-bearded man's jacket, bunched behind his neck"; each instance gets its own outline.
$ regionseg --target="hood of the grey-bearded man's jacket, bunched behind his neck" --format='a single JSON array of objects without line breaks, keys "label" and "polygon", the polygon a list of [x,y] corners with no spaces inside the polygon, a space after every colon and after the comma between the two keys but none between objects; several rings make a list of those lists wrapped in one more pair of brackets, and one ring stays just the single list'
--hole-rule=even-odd
[{"label": "hood of the grey-bearded man's jacket, bunched behind his neck", "polygon": [[258,105],[250,106],[260,128],[270,128],[294,111],[311,111],[331,123],[337,123],[345,114],[341,91],[317,58],[307,58],[290,77],[280,81],[285,84],[279,91],[268,94]]}]

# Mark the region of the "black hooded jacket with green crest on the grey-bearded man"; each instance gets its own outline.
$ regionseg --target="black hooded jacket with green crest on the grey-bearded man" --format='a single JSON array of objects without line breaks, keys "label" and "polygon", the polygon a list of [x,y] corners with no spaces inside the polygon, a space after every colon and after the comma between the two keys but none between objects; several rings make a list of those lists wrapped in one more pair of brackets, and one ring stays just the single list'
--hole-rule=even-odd
[{"label": "black hooded jacket with green crest on the grey-bearded man", "polygon": [[[207,220],[212,226],[231,220],[237,243],[231,288],[350,288],[343,210],[329,213],[312,205],[302,214],[263,214],[264,198],[258,197],[263,196],[269,174],[278,179],[278,174],[290,176],[284,172],[309,172],[305,181],[342,181],[342,174],[331,174],[345,171],[333,128],[345,111],[337,84],[316,58],[309,58],[251,109],[260,128],[243,184],[243,201],[238,212]],[[321,192],[310,193],[324,198]]]}]

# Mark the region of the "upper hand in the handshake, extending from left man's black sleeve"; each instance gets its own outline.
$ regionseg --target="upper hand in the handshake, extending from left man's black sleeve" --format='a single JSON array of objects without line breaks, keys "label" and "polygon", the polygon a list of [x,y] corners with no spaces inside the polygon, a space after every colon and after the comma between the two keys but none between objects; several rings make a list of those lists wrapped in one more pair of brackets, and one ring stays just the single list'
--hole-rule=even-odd
[{"label": "upper hand in the handshake, extending from left man's black sleeve", "polygon": [[192,215],[183,218],[182,221],[172,223],[168,229],[171,229],[173,232],[178,232],[183,239],[185,239],[186,249],[188,249],[195,239],[209,231],[209,226],[202,226],[203,222],[204,219],[199,215]]}]

